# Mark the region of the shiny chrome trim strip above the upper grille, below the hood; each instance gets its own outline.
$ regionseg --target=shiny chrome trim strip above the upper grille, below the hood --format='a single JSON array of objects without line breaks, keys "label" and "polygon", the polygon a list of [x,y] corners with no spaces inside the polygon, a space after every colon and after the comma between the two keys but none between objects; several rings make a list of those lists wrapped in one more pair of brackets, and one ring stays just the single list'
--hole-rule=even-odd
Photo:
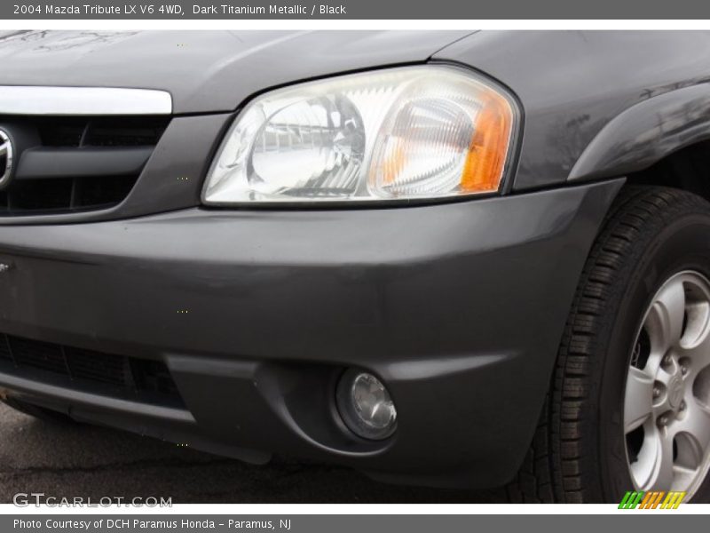
[{"label": "shiny chrome trim strip above the upper grille, below the hood", "polygon": [[0,85],[0,115],[170,115],[170,92]]}]

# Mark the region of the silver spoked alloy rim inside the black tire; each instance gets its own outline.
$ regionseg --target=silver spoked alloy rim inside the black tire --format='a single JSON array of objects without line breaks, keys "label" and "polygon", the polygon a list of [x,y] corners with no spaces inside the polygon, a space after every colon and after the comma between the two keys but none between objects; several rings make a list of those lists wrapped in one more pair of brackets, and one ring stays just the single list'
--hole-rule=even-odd
[{"label": "silver spoked alloy rim inside the black tire", "polygon": [[643,316],[624,434],[636,490],[698,490],[710,468],[710,282],[698,272],[668,278]]}]

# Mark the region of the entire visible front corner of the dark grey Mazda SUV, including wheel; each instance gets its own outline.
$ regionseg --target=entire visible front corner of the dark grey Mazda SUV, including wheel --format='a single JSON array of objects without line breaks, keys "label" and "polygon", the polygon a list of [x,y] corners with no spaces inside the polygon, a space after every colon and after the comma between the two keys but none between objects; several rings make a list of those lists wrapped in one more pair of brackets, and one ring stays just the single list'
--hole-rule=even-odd
[{"label": "entire visible front corner of the dark grey Mazda SUV, including wheel", "polygon": [[710,36],[0,60],[4,402],[516,501],[710,498]]}]

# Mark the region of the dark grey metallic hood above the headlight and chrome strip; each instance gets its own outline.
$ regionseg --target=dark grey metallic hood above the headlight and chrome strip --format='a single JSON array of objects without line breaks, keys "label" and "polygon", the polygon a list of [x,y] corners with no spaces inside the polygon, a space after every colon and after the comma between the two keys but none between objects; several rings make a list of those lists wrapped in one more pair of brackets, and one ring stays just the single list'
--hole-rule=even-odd
[{"label": "dark grey metallic hood above the headlight and chrome strip", "polygon": [[0,85],[170,91],[176,114],[232,111],[317,76],[428,60],[462,31],[0,33]]}]

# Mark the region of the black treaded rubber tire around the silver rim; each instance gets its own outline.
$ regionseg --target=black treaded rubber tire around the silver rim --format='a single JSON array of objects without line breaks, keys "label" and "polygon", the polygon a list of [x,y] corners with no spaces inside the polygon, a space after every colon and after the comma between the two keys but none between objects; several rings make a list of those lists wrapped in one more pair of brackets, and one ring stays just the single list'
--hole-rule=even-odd
[{"label": "black treaded rubber tire around the silver rim", "polygon": [[[638,429],[627,433],[627,429],[634,426],[629,419],[634,417],[625,415],[625,409],[635,405],[627,400],[635,398],[632,383],[627,391],[627,376],[638,368],[644,371],[651,368],[651,359],[644,363],[644,367],[638,362],[638,354],[648,344],[644,336],[649,324],[656,323],[652,322],[656,315],[651,316],[650,306],[664,308],[657,304],[659,295],[666,294],[659,293],[659,289],[667,287],[667,283],[683,282],[685,278],[678,276],[684,274],[678,273],[687,272],[697,274],[692,279],[697,278],[698,282],[710,280],[710,203],[697,195],[665,187],[622,189],[580,276],[533,445],[517,478],[507,487],[511,501],[618,504],[628,490],[669,489],[660,486],[665,482],[660,474],[656,479],[651,474],[645,478],[634,473],[632,479],[632,471],[637,472],[635,469],[640,468],[643,454],[653,449],[652,442],[656,442],[653,440],[656,438],[670,439],[672,449],[658,457],[672,457],[672,464],[680,461],[679,450],[685,449],[681,440],[688,436],[680,433],[684,427],[681,426],[681,409],[685,402],[678,401],[681,397],[678,394],[671,394],[680,390],[681,386],[677,385],[680,378],[675,378],[680,374],[675,370],[671,374],[668,370],[668,376],[672,376],[668,379],[675,381],[669,381],[671,385],[662,393],[659,393],[662,388],[657,385],[659,381],[651,380],[651,404],[661,402],[656,399],[657,394],[659,398],[665,398],[666,406],[675,398],[670,424],[677,425],[664,426],[662,422],[667,422],[668,418],[654,418],[656,415],[651,414],[650,418],[643,418],[640,441],[634,436]],[[694,301],[690,298],[695,298],[695,293],[686,294],[684,290],[681,291],[680,344],[685,342],[682,339],[690,329],[688,306]],[[710,322],[703,323],[707,326]],[[706,337],[710,338],[710,335]],[[647,353],[652,351],[649,346],[643,347]],[[684,353],[680,347],[677,350],[678,354]],[[662,355],[656,354],[661,354],[662,350],[656,350],[654,361],[659,360],[661,365],[681,357],[674,352],[671,358],[671,351],[669,348],[665,359],[659,359]],[[710,348],[706,352],[710,354]],[[698,362],[700,364],[705,363]],[[710,365],[705,368],[704,374],[698,369],[692,370],[693,379],[699,382],[702,378],[703,383],[710,381]],[[688,372],[688,369],[683,370]],[[658,372],[659,377],[666,376],[661,375],[661,370]],[[628,380],[634,381],[633,378]],[[710,386],[700,387],[697,391],[696,388],[688,385],[682,394],[694,394],[693,399],[702,397],[701,405],[709,406]],[[693,404],[691,407],[695,413],[697,406]],[[710,413],[710,408],[707,411]],[[710,424],[702,427],[703,432],[705,427],[710,432]],[[658,428],[657,437],[654,437],[655,428]],[[648,448],[643,449],[643,446]],[[662,447],[659,445],[658,449]],[[708,462],[710,453],[704,449],[702,457],[705,458],[699,453],[698,457],[698,461],[703,462],[698,462],[700,466],[694,474],[699,481],[693,487],[692,501],[710,502],[710,476],[702,466]],[[662,464],[667,465],[667,461]],[[659,472],[667,473],[667,466]],[[638,487],[635,485],[637,478],[648,479],[658,486]],[[682,481],[680,477],[673,479],[674,484]]]}]

